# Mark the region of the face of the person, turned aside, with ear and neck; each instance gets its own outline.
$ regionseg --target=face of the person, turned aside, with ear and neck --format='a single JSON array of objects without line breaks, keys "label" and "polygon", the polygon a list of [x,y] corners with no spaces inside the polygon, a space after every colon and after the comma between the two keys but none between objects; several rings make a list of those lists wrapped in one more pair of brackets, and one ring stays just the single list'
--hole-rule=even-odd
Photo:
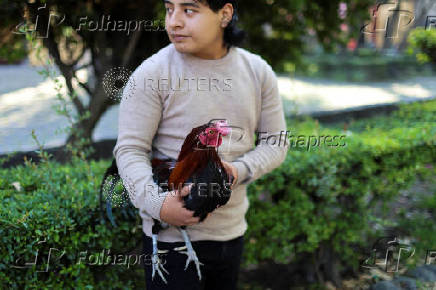
[{"label": "face of the person, turned aside, with ear and neck", "polygon": [[[218,13],[196,0],[164,0],[165,29],[177,51],[201,58],[215,58],[222,54],[225,24],[233,7],[227,3]],[[177,36],[181,35],[181,36]]]}]

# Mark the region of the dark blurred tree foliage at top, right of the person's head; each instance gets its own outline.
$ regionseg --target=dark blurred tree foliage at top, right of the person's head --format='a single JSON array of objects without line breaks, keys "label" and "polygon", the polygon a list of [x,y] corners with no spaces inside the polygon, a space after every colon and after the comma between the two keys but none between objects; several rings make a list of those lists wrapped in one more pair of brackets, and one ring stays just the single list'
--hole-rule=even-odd
[{"label": "dark blurred tree foliage at top, right of the person's head", "polygon": [[[327,51],[333,51],[338,44],[345,45],[348,37],[358,36],[360,25],[369,19],[368,7],[372,4],[367,0],[241,0],[238,3],[241,26],[248,34],[245,46],[264,57],[277,71],[286,71],[287,62],[301,62],[307,49],[305,41],[310,37],[316,38]],[[343,18],[341,5],[346,7]],[[271,25],[271,35],[264,31],[265,24]],[[348,25],[353,33],[342,33],[341,24]]]}]

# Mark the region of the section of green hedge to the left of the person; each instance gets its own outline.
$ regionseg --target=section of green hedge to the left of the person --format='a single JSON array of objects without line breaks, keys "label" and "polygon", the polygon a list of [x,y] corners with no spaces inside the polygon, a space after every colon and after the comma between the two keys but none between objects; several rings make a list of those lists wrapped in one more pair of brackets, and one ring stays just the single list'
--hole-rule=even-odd
[{"label": "section of green hedge to the left of the person", "polygon": [[[98,186],[108,165],[48,162],[0,170],[0,288],[120,289],[135,285],[136,257],[129,266],[123,264],[127,256],[105,258],[134,248],[142,232],[139,215],[123,217],[115,210],[117,221],[124,220],[118,228],[101,218]],[[13,182],[19,182],[20,192]],[[26,268],[25,263],[35,257],[36,265]]]}]

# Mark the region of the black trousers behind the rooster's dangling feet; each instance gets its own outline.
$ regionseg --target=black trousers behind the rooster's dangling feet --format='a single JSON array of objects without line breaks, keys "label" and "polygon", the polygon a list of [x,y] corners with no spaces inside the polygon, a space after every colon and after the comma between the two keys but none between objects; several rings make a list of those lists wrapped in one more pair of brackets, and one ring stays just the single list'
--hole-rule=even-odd
[{"label": "black trousers behind the rooster's dangling feet", "polygon": [[[147,290],[171,289],[171,290],[236,290],[244,249],[244,236],[229,241],[194,241],[191,242],[200,265],[201,280],[198,278],[197,269],[193,261],[185,269],[187,255],[179,253],[173,248],[185,245],[185,242],[167,243],[158,241],[159,250],[169,250],[166,254],[159,254],[164,268],[169,272],[162,271],[168,284],[162,280],[156,272],[151,279],[151,260],[144,263],[145,281]],[[153,252],[152,239],[143,234],[144,257],[151,257]]]}]

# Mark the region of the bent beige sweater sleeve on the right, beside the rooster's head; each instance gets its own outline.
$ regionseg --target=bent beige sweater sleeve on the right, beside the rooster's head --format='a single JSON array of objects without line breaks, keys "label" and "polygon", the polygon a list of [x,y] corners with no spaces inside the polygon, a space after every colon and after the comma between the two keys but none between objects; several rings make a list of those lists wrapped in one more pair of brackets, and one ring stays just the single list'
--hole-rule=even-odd
[{"label": "bent beige sweater sleeve on the right, beside the rooster's head", "polygon": [[[249,184],[279,167],[286,158],[286,121],[279,95],[277,77],[271,66],[262,60],[262,105],[257,125],[256,147],[232,161],[238,170],[238,184]],[[273,136],[274,135],[274,136]]]}]

